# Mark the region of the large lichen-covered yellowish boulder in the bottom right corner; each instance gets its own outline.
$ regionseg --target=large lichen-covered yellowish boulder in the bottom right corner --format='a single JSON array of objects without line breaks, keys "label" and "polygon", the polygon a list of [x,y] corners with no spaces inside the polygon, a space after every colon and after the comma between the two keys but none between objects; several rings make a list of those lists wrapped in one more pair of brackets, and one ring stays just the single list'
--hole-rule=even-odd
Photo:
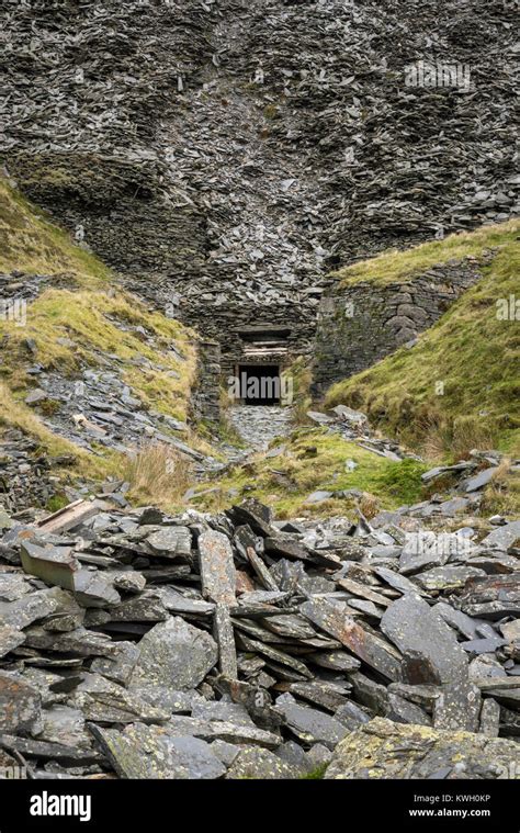
[{"label": "large lichen-covered yellowish boulder in the bottom right corner", "polygon": [[519,778],[513,741],[375,718],[336,748],[325,778]]}]

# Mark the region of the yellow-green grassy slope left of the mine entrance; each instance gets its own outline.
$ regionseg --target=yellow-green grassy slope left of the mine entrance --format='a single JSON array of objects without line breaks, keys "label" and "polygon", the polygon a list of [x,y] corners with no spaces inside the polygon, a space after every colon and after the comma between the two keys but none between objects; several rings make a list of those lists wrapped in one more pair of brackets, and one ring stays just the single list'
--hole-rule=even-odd
[{"label": "yellow-green grassy slope left of the mine entrance", "polygon": [[[55,435],[24,404],[34,386],[26,372],[31,363],[75,379],[84,367],[103,367],[108,356],[122,368],[122,381],[145,407],[185,419],[195,374],[194,335],[120,291],[100,260],[76,246],[4,180],[0,271],[14,272],[22,288],[33,275],[45,275],[41,294],[27,304],[26,320],[11,319],[4,311],[0,316],[0,432],[15,426],[36,437],[48,453],[74,451],[84,472],[117,470],[123,461],[116,454],[104,452],[104,460],[88,454]],[[16,297],[16,290],[11,294]]]}]

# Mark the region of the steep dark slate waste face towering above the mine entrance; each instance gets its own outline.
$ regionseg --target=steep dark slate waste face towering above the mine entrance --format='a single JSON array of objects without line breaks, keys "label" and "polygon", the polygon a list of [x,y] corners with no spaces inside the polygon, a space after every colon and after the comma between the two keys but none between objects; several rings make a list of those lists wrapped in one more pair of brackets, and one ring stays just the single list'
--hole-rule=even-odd
[{"label": "steep dark slate waste face towering above the mine entrance", "polygon": [[[3,158],[129,289],[219,341],[225,371],[252,326],[289,330],[289,358],[312,350],[330,269],[515,212],[515,14],[7,0]],[[459,76],[409,86],[428,61]]]}]

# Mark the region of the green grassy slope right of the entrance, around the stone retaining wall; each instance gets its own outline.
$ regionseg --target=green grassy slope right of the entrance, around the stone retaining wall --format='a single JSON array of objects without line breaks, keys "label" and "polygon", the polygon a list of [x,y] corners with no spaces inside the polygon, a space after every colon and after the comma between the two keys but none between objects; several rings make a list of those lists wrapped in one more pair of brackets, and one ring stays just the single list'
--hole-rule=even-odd
[{"label": "green grassy slope right of the entrance, around the stone retaining wall", "polygon": [[457,457],[476,446],[520,453],[519,233],[512,221],[339,272],[346,282],[412,280],[433,263],[496,249],[483,279],[415,347],[335,384],[326,405],[364,410],[373,425],[428,457]]}]

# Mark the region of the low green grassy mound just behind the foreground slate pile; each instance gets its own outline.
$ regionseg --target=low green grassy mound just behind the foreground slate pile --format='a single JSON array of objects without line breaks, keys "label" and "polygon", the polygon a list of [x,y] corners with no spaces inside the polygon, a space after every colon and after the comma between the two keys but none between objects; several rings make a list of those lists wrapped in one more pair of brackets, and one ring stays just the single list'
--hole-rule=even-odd
[{"label": "low green grassy mound just behind the foreground slate pile", "polygon": [[[213,484],[214,491],[195,496],[193,505],[222,509],[257,497],[273,506],[278,517],[289,518],[341,515],[358,504],[371,516],[421,499],[420,475],[428,466],[415,460],[385,460],[324,428],[299,428],[282,443],[280,454],[258,454],[252,462],[236,466]],[[353,471],[348,461],[355,463]],[[201,486],[201,492],[206,488],[207,484]],[[318,489],[358,489],[362,496],[307,503]]]}]

